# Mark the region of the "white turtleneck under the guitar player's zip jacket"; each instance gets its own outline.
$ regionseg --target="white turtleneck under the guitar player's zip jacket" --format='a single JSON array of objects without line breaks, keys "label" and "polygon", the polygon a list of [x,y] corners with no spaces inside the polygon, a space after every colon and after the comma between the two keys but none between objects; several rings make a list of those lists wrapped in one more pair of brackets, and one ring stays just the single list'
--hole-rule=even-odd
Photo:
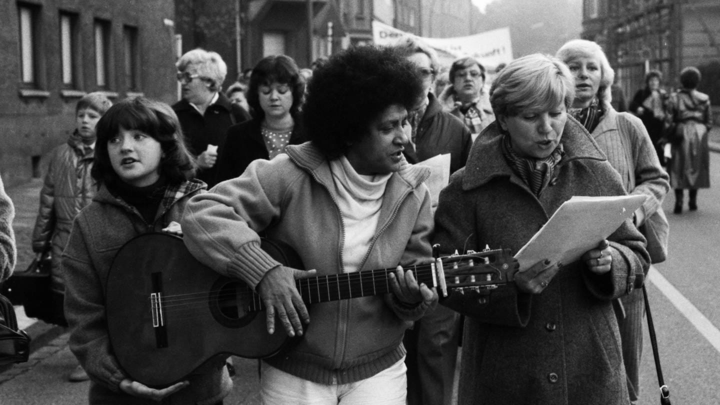
[{"label": "white turtleneck under the guitar player's zip jacket", "polygon": [[392,173],[358,174],[345,156],[330,161],[343,216],[343,272],[356,272],[377,231],[382,197]]}]

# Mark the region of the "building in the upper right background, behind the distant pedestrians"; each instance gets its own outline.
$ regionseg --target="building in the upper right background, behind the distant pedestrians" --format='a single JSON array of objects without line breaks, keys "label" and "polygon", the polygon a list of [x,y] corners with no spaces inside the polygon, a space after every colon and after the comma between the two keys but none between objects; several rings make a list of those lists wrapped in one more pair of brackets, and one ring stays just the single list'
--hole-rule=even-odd
[{"label": "building in the upper right background, behind the distant pedestrians", "polygon": [[720,105],[720,2],[717,0],[584,0],[582,37],[603,46],[627,97],[657,69],[665,86],[696,66],[698,86]]}]

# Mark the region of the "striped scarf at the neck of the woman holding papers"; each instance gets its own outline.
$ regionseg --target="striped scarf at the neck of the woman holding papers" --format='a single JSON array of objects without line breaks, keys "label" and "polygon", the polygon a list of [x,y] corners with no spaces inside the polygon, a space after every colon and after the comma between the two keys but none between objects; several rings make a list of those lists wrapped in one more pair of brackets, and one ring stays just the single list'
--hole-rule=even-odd
[{"label": "striped scarf at the neck of the woman holding papers", "polygon": [[513,172],[523,179],[525,184],[528,184],[530,190],[537,197],[540,197],[540,193],[552,179],[552,171],[564,156],[564,151],[562,143],[558,143],[557,148],[544,159],[524,158],[513,149],[510,135],[505,135],[503,137],[503,155]]}]

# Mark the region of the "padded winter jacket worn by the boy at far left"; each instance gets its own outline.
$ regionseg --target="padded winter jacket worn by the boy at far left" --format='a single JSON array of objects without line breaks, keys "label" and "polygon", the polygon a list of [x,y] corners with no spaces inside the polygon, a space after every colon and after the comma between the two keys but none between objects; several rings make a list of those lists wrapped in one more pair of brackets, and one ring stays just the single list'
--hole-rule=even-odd
[{"label": "padded winter jacket worn by the boy at far left", "polygon": [[68,243],[73,220],[92,201],[95,181],[90,175],[95,151],[85,151],[80,135],[73,133],[68,142],[50,152],[48,173],[40,190],[40,210],[32,231],[32,251],[52,254],[51,285],[65,290],[65,275],[60,256]]}]

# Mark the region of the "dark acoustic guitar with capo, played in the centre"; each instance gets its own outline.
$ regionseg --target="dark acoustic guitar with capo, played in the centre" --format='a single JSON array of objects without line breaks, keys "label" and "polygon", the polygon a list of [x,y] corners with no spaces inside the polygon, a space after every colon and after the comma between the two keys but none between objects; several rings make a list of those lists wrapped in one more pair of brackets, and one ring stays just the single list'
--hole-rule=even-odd
[{"label": "dark acoustic guitar with capo, played in the centre", "polygon": [[[278,262],[303,269],[289,246],[269,239],[261,246]],[[506,249],[438,257],[405,269],[447,295],[496,288],[516,267]],[[380,295],[392,291],[388,275],[394,271],[310,277],[297,280],[297,290],[309,305]],[[122,246],[108,275],[105,304],[115,357],[147,386],[181,380],[216,355],[269,357],[292,340],[282,327],[267,332],[263,303],[245,282],[198,262],[169,233],[144,233]]]}]

